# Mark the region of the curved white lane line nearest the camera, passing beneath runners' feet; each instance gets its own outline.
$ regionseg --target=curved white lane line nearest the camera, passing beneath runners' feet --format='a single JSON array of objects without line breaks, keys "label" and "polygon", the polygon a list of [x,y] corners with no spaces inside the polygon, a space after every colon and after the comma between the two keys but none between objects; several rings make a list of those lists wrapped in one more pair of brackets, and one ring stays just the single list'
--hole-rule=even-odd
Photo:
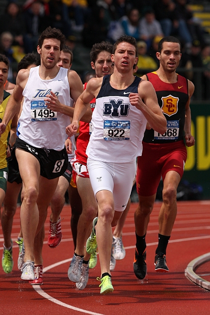
[{"label": "curved white lane line nearest the camera, passing beneath runners' feet", "polygon": [[[199,237],[188,237],[188,238],[181,238],[181,239],[178,239],[178,240],[172,240],[170,241],[170,243],[179,243],[179,242],[188,242],[188,241],[194,241],[194,240],[202,240],[202,239],[208,239],[210,238],[210,235],[207,235],[207,236],[199,236]],[[153,246],[153,245],[157,245],[158,242],[154,242],[154,243],[148,243],[147,246]],[[130,250],[130,249],[134,249],[135,248],[135,245],[134,246],[127,246],[125,247],[125,250]],[[59,265],[62,265],[66,262],[70,262],[72,260],[72,258],[69,258],[69,259],[65,259],[65,260],[61,260],[61,261],[58,261],[48,267],[45,267],[43,268],[43,273],[45,273],[46,271],[50,270],[50,269],[53,269],[54,267],[57,267]],[[43,296],[44,298],[48,299],[49,301],[53,302],[53,303],[56,303],[60,306],[64,306],[68,309],[72,309],[72,310],[75,310],[75,311],[78,311],[78,312],[82,312],[82,313],[85,313],[85,314],[92,314],[92,315],[103,315],[103,314],[99,314],[99,313],[93,313],[93,312],[90,312],[90,311],[86,311],[86,310],[82,310],[82,309],[79,309],[79,308],[76,308],[72,305],[69,305],[69,304],[66,304],[66,303],[63,303],[63,302],[60,302],[59,300],[53,298],[52,296],[50,296],[49,294],[47,294],[44,290],[41,289],[40,285],[32,285],[34,290],[40,294],[41,296]]]}]

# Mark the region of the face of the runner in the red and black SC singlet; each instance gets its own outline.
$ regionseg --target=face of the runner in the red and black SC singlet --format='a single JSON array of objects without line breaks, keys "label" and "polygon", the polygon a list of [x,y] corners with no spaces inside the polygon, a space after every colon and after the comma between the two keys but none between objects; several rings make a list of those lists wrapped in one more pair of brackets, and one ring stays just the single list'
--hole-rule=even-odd
[{"label": "face of the runner in the red and black SC singlet", "polygon": [[160,67],[166,72],[174,72],[178,67],[181,59],[180,44],[164,42],[161,53],[157,52]]}]

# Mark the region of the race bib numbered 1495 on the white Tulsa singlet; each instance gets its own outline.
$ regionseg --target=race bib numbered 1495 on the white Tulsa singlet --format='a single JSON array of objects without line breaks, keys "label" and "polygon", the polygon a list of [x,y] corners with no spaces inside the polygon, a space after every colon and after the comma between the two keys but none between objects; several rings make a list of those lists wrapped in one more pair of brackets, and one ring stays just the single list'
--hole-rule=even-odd
[{"label": "race bib numbered 1495 on the white Tulsa singlet", "polygon": [[57,112],[47,108],[44,100],[32,100],[30,104],[31,122],[57,120]]}]

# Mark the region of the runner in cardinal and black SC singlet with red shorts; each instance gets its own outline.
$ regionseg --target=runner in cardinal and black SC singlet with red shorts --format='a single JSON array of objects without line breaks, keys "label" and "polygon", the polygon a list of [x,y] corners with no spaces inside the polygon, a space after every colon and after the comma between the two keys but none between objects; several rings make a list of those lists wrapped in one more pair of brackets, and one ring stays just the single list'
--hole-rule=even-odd
[{"label": "runner in cardinal and black SC singlet with red shorts", "polygon": [[[155,255],[155,270],[168,272],[166,247],[177,215],[177,187],[184,173],[186,148],[194,145],[191,135],[190,97],[194,85],[176,73],[181,59],[181,44],[173,36],[159,41],[157,71],[142,78],[150,81],[157,94],[159,107],[167,120],[165,133],[146,130],[143,138],[143,153],[138,157],[136,187],[139,205],[135,211],[136,250],[133,270],[137,278],[144,279],[147,273],[145,236],[156,199],[157,186],[162,176],[163,203],[158,222],[158,246]],[[148,160],[150,161],[148,163]]]}]

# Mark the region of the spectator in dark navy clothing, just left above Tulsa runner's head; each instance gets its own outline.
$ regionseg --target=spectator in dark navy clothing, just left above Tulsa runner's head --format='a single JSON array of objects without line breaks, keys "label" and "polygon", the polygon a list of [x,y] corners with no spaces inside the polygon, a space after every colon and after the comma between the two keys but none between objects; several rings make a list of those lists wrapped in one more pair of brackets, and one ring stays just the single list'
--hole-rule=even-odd
[{"label": "spectator in dark navy clothing, just left above Tulsa runner's head", "polygon": [[44,14],[42,2],[35,0],[25,12],[26,34],[24,47],[26,53],[36,51],[37,41],[41,32],[49,26],[49,20]]}]

